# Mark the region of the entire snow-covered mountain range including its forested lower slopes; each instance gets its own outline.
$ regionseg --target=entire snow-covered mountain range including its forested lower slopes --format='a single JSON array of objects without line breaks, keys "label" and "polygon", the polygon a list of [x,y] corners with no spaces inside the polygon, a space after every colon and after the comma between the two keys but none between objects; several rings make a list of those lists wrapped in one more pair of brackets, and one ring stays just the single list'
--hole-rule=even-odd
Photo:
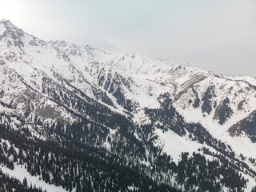
[{"label": "entire snow-covered mountain range including its forested lower slopes", "polygon": [[[7,20],[0,21],[0,68],[2,174],[21,181],[24,174],[49,191],[89,186],[94,191],[114,186],[163,191],[161,183],[165,191],[174,191],[170,186],[182,191],[251,191],[256,186],[254,78],[142,54],[44,42]],[[60,148],[50,150],[52,142]],[[48,149],[45,154],[38,143]],[[136,171],[141,182],[120,177],[107,186],[110,171],[88,158],[70,158],[70,150]],[[52,166],[39,161],[46,156]],[[58,162],[60,157],[70,164]],[[85,174],[87,168],[79,163],[95,170]],[[123,176],[120,169],[114,171]],[[97,188],[101,177],[102,188]]]}]

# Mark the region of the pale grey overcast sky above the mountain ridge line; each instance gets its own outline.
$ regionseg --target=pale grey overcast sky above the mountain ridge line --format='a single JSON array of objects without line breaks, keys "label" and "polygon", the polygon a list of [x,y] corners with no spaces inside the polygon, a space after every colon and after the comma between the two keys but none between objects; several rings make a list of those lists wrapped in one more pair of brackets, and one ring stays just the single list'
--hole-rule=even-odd
[{"label": "pale grey overcast sky above the mountain ridge line", "polygon": [[43,40],[256,77],[256,0],[0,0],[0,19]]}]

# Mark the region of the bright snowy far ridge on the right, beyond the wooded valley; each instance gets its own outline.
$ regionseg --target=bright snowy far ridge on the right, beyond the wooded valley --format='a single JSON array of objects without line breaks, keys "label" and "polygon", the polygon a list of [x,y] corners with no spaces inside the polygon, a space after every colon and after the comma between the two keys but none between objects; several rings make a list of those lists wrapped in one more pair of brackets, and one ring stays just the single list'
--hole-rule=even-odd
[{"label": "bright snowy far ridge on the right, beyond the wooded valley", "polygon": [[[131,98],[138,102],[141,109],[143,107],[158,107],[158,95],[169,92],[173,96],[174,106],[188,121],[201,122],[209,129],[210,134],[213,134],[216,138],[222,138],[222,134],[226,134],[222,139],[230,143],[235,150],[238,150],[238,154],[244,151],[247,145],[252,146],[256,150],[255,145],[250,140],[248,142],[241,142],[241,148],[234,145],[239,138],[232,138],[227,132],[230,126],[246,118],[252,111],[256,110],[256,91],[250,87],[250,85],[255,83],[254,78],[219,76],[218,74],[198,70],[191,66],[170,65],[171,62],[166,64],[166,61],[150,59],[140,54],[110,54],[98,49],[86,49],[86,46],[74,46],[74,44],[69,46],[67,43],[63,46],[61,42],[52,42],[52,44],[68,53],[69,57],[70,53],[75,52],[75,47],[79,50],[79,54],[72,54],[70,60],[74,63],[79,63],[79,66],[83,65],[84,68],[88,66],[94,68],[94,66],[90,66],[90,63],[87,62],[89,59],[87,55],[90,55],[97,62],[99,70],[102,67],[109,67],[110,70],[117,73],[125,73],[123,76],[126,78],[127,74],[129,74],[135,86],[132,85],[131,90],[124,89],[126,98]],[[91,70],[90,68],[89,70]],[[86,73],[85,70],[81,69],[81,71]],[[97,75],[95,73],[95,83],[98,80],[96,78]],[[214,94],[209,99],[210,104],[207,107],[211,107],[212,110],[208,114],[207,112],[202,112],[203,102],[201,100],[204,94],[206,94],[206,90],[211,86],[214,86]],[[200,100],[198,107],[192,106],[196,98]],[[230,109],[233,113],[229,118],[225,119],[223,125],[220,125],[218,123],[217,108],[222,105],[225,98],[230,99]],[[189,103],[190,100],[191,103]],[[143,113],[138,111],[135,115],[137,122],[140,116],[143,118]],[[256,158],[256,154],[244,152],[246,156]]]}]

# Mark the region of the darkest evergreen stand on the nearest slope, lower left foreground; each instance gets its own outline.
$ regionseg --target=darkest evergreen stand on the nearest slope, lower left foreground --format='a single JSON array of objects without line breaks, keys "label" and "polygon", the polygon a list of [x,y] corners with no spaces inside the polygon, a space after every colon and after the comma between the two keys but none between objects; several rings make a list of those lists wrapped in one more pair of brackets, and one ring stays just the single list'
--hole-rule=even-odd
[{"label": "darkest evergreen stand on the nearest slope, lower left foreground", "polygon": [[[68,191],[74,188],[76,191],[178,191],[166,184],[154,182],[140,173],[136,166],[119,165],[112,160],[111,155],[97,149],[78,151],[56,146],[54,142],[35,142],[2,127],[0,135],[0,161],[3,165],[11,170],[14,164],[22,165],[32,176],[39,175],[46,183],[62,186]],[[6,141],[11,141],[8,142],[10,146]],[[13,160],[8,158],[11,156]],[[10,178],[5,179],[8,184],[6,189],[13,185],[24,188],[19,182],[12,184]],[[129,190],[129,187],[135,190]]]}]

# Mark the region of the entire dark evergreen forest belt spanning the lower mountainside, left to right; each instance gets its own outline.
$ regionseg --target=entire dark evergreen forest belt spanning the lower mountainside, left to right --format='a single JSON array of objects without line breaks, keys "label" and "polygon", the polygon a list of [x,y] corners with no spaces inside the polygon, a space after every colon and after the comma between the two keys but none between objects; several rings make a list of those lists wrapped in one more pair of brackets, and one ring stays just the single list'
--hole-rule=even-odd
[{"label": "entire dark evergreen forest belt spanning the lower mountainside, left to right", "polygon": [[[169,155],[160,154],[159,149],[150,146],[150,142],[134,142],[134,146],[130,147],[112,141],[113,150],[94,147],[90,145],[94,141],[90,140],[88,144],[78,142],[80,138],[77,137],[82,134],[74,134],[72,137],[70,131],[75,133],[84,130],[83,123],[86,122],[66,126],[64,134],[60,134],[62,126],[58,124],[55,129],[50,130],[52,134],[60,135],[54,141],[29,138],[30,132],[26,130],[22,132],[27,134],[26,137],[22,137],[21,133],[10,127],[1,126],[1,163],[10,169],[14,169],[14,165],[24,166],[32,176],[38,175],[46,183],[62,186],[68,191],[129,191],[130,186],[134,187],[134,191],[214,192],[222,191],[225,187],[231,191],[242,191],[247,181],[238,171],[252,177],[256,175],[217,140],[215,148],[222,154],[212,153],[206,148],[198,149],[198,152],[203,151],[213,157],[212,161],[200,153],[182,153],[181,161],[175,164],[170,161]],[[190,129],[190,126],[185,127]],[[194,133],[191,131],[193,138],[198,139],[197,135],[207,138],[206,130],[199,125],[198,129],[194,129]],[[123,134],[129,135],[128,133],[129,131]],[[131,136],[130,139],[133,142]],[[210,141],[214,141],[214,138],[210,138]],[[146,156],[143,145],[149,146],[152,157]],[[233,160],[230,161],[228,156]],[[146,163],[140,162],[141,159],[146,159]],[[198,186],[197,189],[194,186]]]}]

